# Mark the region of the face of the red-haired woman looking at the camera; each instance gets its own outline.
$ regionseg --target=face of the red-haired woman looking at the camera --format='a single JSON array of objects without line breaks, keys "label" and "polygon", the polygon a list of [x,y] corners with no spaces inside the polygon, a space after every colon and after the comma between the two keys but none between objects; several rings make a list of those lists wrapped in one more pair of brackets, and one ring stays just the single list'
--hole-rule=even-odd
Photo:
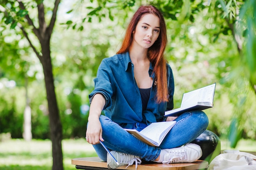
[{"label": "face of the red-haired woman looking at the camera", "polygon": [[160,33],[159,18],[153,14],[143,15],[133,33],[133,44],[142,48],[151,47]]}]

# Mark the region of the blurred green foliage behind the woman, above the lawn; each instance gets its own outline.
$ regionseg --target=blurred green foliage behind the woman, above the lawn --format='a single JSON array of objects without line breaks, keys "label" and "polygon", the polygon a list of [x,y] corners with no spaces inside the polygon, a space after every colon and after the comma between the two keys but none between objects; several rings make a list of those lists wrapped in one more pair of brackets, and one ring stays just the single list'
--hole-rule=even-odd
[{"label": "blurred green foliage behind the woman, above the lawn", "polygon": [[[151,3],[162,9],[166,18],[166,59],[175,76],[175,108],[180,106],[184,92],[217,83],[214,107],[205,110],[208,129],[225,138],[256,139],[256,95],[247,79],[247,70],[241,66],[240,51],[228,25],[232,22],[232,11],[227,22],[221,2],[225,5],[231,2],[235,7],[232,0],[125,3],[63,0],[51,39],[63,137],[84,137],[88,94],[94,87],[97,68],[103,58],[119,49],[129,18],[137,7]],[[45,0],[47,4],[51,3]],[[31,15],[36,15],[34,12],[34,8],[29,9]],[[11,137],[22,138],[28,82],[33,138],[48,139],[49,120],[40,62],[25,38],[16,35],[19,30],[10,27],[0,26],[0,133],[10,132]]]}]

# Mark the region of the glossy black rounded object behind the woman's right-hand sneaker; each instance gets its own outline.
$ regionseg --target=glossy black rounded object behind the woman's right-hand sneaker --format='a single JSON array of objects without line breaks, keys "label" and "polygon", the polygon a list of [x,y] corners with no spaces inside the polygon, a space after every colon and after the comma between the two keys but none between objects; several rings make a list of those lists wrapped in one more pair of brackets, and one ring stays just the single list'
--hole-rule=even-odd
[{"label": "glossy black rounded object behind the woman's right-hand sneaker", "polygon": [[205,160],[209,163],[221,152],[220,138],[209,130],[205,130],[190,143],[198,144],[201,147],[203,155],[200,160]]}]

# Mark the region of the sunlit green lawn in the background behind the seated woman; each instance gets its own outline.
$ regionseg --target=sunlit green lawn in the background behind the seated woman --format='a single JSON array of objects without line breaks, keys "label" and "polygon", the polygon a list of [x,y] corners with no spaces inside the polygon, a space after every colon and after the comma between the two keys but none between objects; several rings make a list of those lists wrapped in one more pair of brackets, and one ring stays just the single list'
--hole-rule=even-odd
[{"label": "sunlit green lawn in the background behind the seated woman", "polygon": [[[241,139],[236,150],[256,152],[255,140]],[[66,139],[62,142],[63,166],[65,170],[75,170],[72,158],[95,157],[92,145],[85,139]],[[231,149],[227,140],[221,140],[221,149]],[[52,143],[50,140],[11,139],[0,142],[0,170],[51,170]]]}]

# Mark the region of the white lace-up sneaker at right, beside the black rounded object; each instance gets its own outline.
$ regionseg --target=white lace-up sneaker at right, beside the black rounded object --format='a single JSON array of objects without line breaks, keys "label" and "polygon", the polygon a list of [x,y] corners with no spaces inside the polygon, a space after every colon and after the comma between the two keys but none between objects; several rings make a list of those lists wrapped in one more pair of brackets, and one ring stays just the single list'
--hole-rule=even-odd
[{"label": "white lace-up sneaker at right, beside the black rounded object", "polygon": [[202,149],[197,144],[186,144],[180,148],[164,149],[162,163],[186,163],[194,162],[202,156]]}]

